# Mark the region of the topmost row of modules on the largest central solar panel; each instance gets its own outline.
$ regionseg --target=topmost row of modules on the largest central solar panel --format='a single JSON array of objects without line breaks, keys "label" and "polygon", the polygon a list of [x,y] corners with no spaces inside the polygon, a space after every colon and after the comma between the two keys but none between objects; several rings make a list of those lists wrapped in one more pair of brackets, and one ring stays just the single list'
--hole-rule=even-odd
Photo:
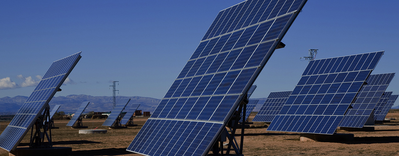
[{"label": "topmost row of modules on the largest central solar panel", "polygon": [[219,12],[203,40],[298,10],[302,0],[247,0]]}]

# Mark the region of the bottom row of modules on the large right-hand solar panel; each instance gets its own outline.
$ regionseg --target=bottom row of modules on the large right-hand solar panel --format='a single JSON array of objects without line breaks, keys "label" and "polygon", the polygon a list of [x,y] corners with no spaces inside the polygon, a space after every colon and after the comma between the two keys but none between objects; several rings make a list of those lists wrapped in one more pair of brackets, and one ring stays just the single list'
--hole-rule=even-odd
[{"label": "bottom row of modules on the large right-hand solar panel", "polygon": [[[349,107],[349,105],[348,105]],[[344,116],[276,115],[267,131],[334,134]]]}]

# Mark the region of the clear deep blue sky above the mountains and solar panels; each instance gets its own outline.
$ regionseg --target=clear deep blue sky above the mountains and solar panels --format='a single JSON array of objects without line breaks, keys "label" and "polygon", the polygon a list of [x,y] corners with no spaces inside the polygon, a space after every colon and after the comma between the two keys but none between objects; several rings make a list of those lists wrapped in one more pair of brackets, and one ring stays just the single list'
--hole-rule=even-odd
[{"label": "clear deep blue sky above the mountains and solar panels", "polygon": [[[55,96],[86,94],[162,98],[220,10],[241,0],[3,1],[0,5],[0,97],[29,96],[36,76],[82,51],[71,81]],[[373,74],[398,72],[399,1],[309,0],[255,84],[253,98],[292,90],[316,58],[385,51]],[[22,75],[22,76],[21,76]],[[30,78],[29,78],[30,77]],[[13,84],[13,82],[15,84]],[[11,83],[11,84],[9,84]],[[388,91],[399,94],[399,74]],[[396,102],[396,105],[399,102]]]}]

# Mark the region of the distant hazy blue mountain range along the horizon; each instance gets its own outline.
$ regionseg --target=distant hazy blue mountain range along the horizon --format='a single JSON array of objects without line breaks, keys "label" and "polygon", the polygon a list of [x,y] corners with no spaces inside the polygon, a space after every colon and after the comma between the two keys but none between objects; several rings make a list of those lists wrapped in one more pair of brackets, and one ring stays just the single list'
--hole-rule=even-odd
[{"label": "distant hazy blue mountain range along the horizon", "polygon": [[[116,96],[116,101],[119,99],[128,98],[128,96]],[[16,97],[2,97],[0,98],[0,115],[15,114],[21,108],[22,104],[28,99],[27,96],[16,96]],[[132,103],[140,103],[138,110],[150,111],[151,113],[158,106],[160,99],[155,99],[151,97],[140,97],[131,96],[130,102],[126,106],[130,108]],[[266,98],[259,98],[257,107],[253,111],[259,111],[263,103],[265,103]],[[54,105],[61,105],[58,111],[64,111],[65,113],[75,113],[77,108],[84,101],[90,101],[90,104],[85,109],[85,112],[89,111],[100,111],[106,112],[112,110],[113,99],[112,96],[88,96],[88,95],[69,95],[69,96],[58,96],[53,97],[50,101],[50,107],[53,108]],[[125,109],[126,111],[126,109]]]}]

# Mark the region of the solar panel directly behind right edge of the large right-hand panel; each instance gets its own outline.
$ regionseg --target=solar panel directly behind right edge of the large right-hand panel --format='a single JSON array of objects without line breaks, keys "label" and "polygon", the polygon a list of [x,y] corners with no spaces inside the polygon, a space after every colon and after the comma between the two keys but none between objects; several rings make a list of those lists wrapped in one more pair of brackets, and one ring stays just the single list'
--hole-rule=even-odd
[{"label": "solar panel directly behind right edge of the large right-hand panel", "polygon": [[387,89],[395,73],[375,74],[367,78],[361,87],[352,108],[348,109],[340,127],[362,128],[377,105],[378,100]]}]

